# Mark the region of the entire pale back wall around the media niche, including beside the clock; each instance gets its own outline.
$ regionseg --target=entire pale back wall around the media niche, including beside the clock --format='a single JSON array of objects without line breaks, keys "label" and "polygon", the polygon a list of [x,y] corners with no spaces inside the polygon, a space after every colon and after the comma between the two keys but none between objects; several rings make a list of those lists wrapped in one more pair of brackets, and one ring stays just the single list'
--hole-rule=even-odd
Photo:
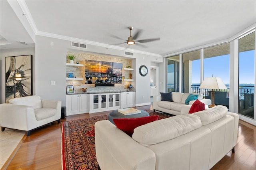
[{"label": "entire pale back wall around the media niche, including beside the clock", "polygon": [[[51,46],[50,42],[54,45]],[[62,101],[62,106],[66,106],[66,51],[81,51],[76,47],[70,46],[68,40],[60,40],[44,36],[36,36],[36,95],[44,99],[58,99]],[[124,51],[117,49],[106,49],[96,45],[87,45],[87,49],[82,50],[84,53],[102,53],[124,56]],[[150,104],[150,62],[163,62],[162,57],[134,53],[132,67],[133,73],[132,84],[136,87],[136,105]],[[148,67],[148,75],[142,77],[138,69],[141,65]],[[55,81],[56,85],[50,85],[50,81]],[[144,96],[144,97],[143,97]]]}]

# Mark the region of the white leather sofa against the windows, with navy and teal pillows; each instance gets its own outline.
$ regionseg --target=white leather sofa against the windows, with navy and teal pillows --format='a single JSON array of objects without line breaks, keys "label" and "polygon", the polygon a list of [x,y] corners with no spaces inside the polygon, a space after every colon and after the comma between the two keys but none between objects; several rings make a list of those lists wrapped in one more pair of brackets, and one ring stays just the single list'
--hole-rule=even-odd
[{"label": "white leather sofa against the windows, with navy and teal pillows", "polygon": [[[172,115],[181,115],[182,107],[185,104],[185,101],[188,97],[188,95],[194,94],[194,93],[179,93],[179,92],[172,92],[172,100],[171,101],[161,101],[162,97],[161,95],[153,96],[153,109],[154,111],[160,111],[164,113],[169,113]],[[198,95],[198,100],[200,100],[202,103],[204,103],[206,106],[210,105],[212,101],[210,99],[203,99],[202,94],[194,94]],[[195,102],[195,100],[189,102],[189,106]],[[187,112],[188,113],[188,112]]]}]

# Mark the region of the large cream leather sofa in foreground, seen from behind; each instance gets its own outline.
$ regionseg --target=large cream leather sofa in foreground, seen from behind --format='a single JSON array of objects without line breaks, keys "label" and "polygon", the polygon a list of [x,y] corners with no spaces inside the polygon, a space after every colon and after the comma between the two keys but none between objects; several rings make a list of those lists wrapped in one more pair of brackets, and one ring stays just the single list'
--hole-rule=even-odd
[{"label": "large cream leather sofa in foreground, seen from behind", "polygon": [[110,121],[95,123],[96,158],[102,170],[206,170],[234,152],[239,116],[226,107],[154,121],[132,137]]}]

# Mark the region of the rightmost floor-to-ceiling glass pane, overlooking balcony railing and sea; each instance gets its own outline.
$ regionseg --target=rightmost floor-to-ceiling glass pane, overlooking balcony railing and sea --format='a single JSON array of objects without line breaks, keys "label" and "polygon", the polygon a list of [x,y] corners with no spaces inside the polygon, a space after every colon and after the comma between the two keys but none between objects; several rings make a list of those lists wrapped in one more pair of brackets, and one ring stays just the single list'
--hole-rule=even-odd
[{"label": "rightmost floor-to-ceiling glass pane, overlooking balcony railing and sea", "polygon": [[239,39],[239,114],[254,119],[255,32]]}]

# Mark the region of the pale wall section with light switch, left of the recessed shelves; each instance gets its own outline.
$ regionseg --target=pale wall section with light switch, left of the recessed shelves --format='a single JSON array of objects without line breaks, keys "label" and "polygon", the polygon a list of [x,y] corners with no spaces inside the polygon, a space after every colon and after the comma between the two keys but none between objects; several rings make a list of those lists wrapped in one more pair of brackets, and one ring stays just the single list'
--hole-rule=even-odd
[{"label": "pale wall section with light switch, left of the recessed shelves", "polygon": [[[53,42],[53,45],[50,45]],[[36,95],[61,100],[66,106],[66,51],[70,42],[36,36]],[[55,85],[50,82],[55,81]]]}]

